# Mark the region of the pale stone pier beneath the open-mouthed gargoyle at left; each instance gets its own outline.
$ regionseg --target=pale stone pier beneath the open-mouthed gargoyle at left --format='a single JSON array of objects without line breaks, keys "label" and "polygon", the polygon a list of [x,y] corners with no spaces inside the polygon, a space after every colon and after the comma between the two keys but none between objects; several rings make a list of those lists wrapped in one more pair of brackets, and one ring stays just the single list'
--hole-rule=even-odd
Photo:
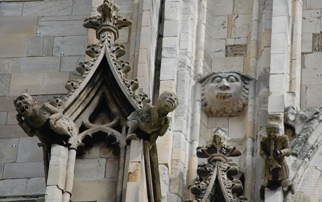
[{"label": "pale stone pier beneath the open-mouthed gargoyle at left", "polygon": [[68,148],[53,144],[49,161],[45,201],[61,202],[65,188]]}]

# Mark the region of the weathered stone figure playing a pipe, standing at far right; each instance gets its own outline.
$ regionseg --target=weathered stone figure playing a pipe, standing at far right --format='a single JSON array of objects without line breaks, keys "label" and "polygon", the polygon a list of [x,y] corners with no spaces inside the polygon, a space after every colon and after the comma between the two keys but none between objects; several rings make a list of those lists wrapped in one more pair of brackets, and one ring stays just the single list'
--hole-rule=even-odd
[{"label": "weathered stone figure playing a pipe, standing at far right", "polygon": [[278,124],[266,125],[267,136],[263,136],[260,144],[260,154],[265,160],[263,169],[263,182],[260,190],[264,200],[265,187],[274,189],[279,186],[288,188],[288,196],[284,201],[289,201],[290,192],[294,194],[292,182],[285,157],[291,155],[291,148],[286,135]]}]

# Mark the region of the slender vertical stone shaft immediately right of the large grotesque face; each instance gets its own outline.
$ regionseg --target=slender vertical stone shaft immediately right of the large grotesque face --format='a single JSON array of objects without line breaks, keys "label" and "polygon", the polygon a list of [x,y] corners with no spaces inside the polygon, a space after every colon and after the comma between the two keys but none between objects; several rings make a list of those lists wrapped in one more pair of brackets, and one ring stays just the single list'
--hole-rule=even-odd
[{"label": "slender vertical stone shaft immediately right of the large grotesque face", "polygon": [[[254,0],[252,3],[252,17],[251,17],[251,31],[250,31],[250,45],[255,43],[255,46],[250,46],[250,66],[249,66],[249,75],[256,78],[257,73],[257,57],[258,57],[258,30],[259,30],[259,0]],[[253,162],[253,152],[254,152],[254,139],[256,138],[255,134],[255,89],[256,81],[251,81],[249,83],[249,103],[247,109],[247,132],[246,132],[246,166],[245,166],[245,196],[248,200],[252,200],[252,162]]]}]

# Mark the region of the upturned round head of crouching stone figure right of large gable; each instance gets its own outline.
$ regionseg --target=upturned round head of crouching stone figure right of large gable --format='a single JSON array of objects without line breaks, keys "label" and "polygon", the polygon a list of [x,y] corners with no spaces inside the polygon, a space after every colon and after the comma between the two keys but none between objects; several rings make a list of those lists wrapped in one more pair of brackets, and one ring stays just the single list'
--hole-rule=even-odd
[{"label": "upturned round head of crouching stone figure right of large gable", "polygon": [[178,97],[170,91],[165,91],[157,98],[157,107],[164,112],[172,112],[178,106]]}]

